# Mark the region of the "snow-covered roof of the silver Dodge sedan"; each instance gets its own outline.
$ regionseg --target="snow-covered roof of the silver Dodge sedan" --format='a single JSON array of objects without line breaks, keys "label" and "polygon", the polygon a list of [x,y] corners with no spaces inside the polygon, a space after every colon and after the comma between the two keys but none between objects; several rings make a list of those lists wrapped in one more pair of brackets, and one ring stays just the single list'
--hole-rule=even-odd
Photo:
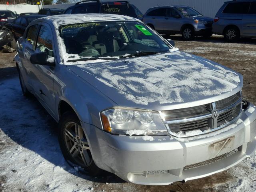
[{"label": "snow-covered roof of the silver Dodge sedan", "polygon": [[136,18],[115,15],[115,14],[65,14],[48,16],[43,19],[51,20],[56,25],[65,25],[72,23],[92,22],[92,21],[114,21],[114,20],[136,20]]}]

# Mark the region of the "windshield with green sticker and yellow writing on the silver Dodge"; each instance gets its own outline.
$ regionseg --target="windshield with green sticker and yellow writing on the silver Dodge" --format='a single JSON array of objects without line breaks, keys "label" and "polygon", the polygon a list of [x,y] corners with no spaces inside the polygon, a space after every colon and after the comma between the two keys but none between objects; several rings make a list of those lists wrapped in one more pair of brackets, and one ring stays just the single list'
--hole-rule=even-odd
[{"label": "windshield with green sticker and yellow writing on the silver Dodge", "polygon": [[158,35],[141,22],[91,22],[59,27],[67,58],[120,57],[138,52],[169,52]]}]

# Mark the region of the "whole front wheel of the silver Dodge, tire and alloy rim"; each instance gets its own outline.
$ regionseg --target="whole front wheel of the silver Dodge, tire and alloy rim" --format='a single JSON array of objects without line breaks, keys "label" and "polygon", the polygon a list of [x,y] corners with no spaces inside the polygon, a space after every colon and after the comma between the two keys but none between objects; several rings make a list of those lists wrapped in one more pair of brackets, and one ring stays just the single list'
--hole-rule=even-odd
[{"label": "whole front wheel of the silver Dodge, tire and alloy rim", "polygon": [[65,112],[58,123],[58,140],[65,160],[70,166],[81,167],[80,172],[98,176],[102,170],[92,159],[90,146],[74,112]]}]

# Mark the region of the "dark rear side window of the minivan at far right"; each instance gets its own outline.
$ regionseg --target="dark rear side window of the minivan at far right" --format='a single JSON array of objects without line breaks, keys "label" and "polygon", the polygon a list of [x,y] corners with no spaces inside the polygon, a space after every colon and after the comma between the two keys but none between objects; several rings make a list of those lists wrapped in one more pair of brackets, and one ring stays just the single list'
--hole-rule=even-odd
[{"label": "dark rear side window of the minivan at far right", "polygon": [[229,3],[224,8],[222,13],[230,14],[248,14],[250,7],[250,2],[241,2],[241,3]]}]

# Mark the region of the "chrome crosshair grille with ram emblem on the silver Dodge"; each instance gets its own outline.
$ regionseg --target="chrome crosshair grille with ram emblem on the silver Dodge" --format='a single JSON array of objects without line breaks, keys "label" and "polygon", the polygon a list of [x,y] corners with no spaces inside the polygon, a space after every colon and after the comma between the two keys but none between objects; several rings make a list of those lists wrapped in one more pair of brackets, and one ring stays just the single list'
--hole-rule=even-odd
[{"label": "chrome crosshair grille with ram emblem on the silver Dodge", "polygon": [[[213,117],[212,111],[218,111],[219,116]],[[217,130],[238,118],[242,110],[241,93],[238,92],[228,98],[214,103],[176,110],[162,111],[165,123],[171,134],[177,137],[186,137],[186,132],[193,130]],[[182,132],[182,134],[177,134]]]}]

